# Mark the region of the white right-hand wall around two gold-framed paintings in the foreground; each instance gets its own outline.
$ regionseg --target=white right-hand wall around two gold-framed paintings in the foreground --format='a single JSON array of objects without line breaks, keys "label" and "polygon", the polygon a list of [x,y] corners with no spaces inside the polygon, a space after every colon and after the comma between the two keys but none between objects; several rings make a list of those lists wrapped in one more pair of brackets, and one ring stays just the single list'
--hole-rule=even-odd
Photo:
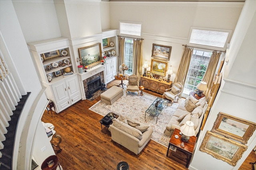
[{"label": "white right-hand wall around two gold-framed paintings in the foreground", "polygon": [[[254,47],[256,44],[255,11],[256,1],[246,1],[234,32],[234,35],[236,36],[232,37],[231,40],[231,42],[234,43],[239,40],[242,40],[242,42],[239,42],[240,45],[238,46],[230,44],[230,53],[228,57],[234,62],[229,62],[228,65],[224,65],[224,77],[228,78],[224,78],[221,82],[220,90],[216,96],[212,109],[210,110],[210,115],[206,121],[204,129],[201,132],[202,137],[198,140],[198,146],[194,152],[193,159],[189,167],[190,170],[237,170],[256,145],[256,131],[254,131],[252,137],[250,137],[246,144],[248,147],[247,150],[234,167],[222,160],[213,158],[205,152],[199,151],[199,147],[206,131],[210,131],[212,129],[219,112],[227,113],[256,123],[255,66],[253,64],[256,61]],[[246,15],[248,12],[252,16]],[[250,18],[253,19],[250,20]],[[230,72],[227,70],[230,70]],[[241,70],[242,73],[240,74],[236,70]]]}]

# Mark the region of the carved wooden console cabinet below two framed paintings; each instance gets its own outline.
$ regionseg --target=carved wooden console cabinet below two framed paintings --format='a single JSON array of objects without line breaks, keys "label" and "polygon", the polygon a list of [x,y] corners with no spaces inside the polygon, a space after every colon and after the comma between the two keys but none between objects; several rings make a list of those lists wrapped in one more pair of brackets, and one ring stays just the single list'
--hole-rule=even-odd
[{"label": "carved wooden console cabinet below two framed paintings", "polygon": [[171,88],[172,82],[159,81],[154,78],[140,77],[140,86],[144,86],[145,89],[152,90],[160,94],[164,94],[167,88]]}]

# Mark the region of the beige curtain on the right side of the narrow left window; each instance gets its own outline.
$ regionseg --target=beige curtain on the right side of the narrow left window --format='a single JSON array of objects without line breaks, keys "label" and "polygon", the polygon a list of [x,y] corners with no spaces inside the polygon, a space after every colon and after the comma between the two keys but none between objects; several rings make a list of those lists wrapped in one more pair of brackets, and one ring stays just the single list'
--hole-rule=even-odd
[{"label": "beige curtain on the right side of the narrow left window", "polygon": [[140,79],[142,68],[142,39],[135,39],[133,41],[133,61],[132,70],[133,74],[137,75]]}]

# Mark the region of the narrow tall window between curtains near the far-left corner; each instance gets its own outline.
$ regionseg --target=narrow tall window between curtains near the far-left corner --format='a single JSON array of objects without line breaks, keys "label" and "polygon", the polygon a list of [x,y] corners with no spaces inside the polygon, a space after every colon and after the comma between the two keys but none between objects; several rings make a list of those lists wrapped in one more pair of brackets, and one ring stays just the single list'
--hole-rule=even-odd
[{"label": "narrow tall window between curtains near the far-left corner", "polygon": [[126,74],[132,74],[133,39],[125,39],[124,63],[128,66]]}]

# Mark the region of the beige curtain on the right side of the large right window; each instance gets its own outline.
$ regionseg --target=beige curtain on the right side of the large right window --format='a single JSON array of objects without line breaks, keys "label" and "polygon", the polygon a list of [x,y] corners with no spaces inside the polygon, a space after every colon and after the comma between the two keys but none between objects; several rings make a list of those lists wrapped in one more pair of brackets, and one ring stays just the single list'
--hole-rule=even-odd
[{"label": "beige curtain on the right side of the large right window", "polygon": [[209,90],[212,86],[212,81],[215,77],[216,74],[216,69],[220,60],[220,56],[221,56],[221,52],[212,52],[212,56],[210,58],[210,61],[208,63],[207,69],[205,71],[204,77],[202,79],[203,82],[207,83],[207,90],[204,92],[205,96],[206,96],[206,100],[208,100],[209,97]]}]

